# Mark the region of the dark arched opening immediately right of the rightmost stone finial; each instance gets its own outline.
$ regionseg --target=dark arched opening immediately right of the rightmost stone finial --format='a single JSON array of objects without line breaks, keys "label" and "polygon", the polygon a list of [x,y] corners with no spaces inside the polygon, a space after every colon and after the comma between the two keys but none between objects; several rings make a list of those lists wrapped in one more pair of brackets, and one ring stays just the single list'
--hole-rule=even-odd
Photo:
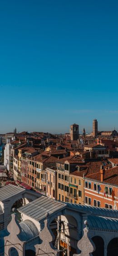
[{"label": "dark arched opening immediately right of the rightmost stone finial", "polygon": [[95,244],[95,251],[93,251],[93,256],[104,256],[104,241],[101,236],[93,236],[92,241]]}]

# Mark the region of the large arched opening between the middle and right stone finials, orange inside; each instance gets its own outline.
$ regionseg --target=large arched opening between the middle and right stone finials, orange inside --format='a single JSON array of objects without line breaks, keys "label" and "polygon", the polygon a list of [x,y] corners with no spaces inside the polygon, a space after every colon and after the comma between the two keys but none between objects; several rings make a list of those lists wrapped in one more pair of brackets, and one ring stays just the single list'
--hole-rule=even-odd
[{"label": "large arched opening between the middle and right stone finials, orange inside", "polygon": [[61,251],[61,256],[72,256],[77,248],[77,222],[73,216],[61,215],[50,223],[50,229],[54,234],[53,245]]}]

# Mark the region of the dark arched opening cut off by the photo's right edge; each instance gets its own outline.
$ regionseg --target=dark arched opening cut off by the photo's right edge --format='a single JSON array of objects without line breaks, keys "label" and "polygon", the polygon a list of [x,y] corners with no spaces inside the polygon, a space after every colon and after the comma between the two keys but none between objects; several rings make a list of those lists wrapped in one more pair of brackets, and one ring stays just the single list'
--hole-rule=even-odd
[{"label": "dark arched opening cut off by the photo's right edge", "polygon": [[108,243],[107,256],[118,256],[118,237]]}]

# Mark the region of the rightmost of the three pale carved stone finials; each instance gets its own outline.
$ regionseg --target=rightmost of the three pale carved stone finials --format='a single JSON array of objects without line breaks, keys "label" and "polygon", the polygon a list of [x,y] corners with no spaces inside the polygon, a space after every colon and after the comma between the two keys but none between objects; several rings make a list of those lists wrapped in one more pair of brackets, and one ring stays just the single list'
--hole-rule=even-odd
[{"label": "rightmost of the three pale carved stone finials", "polygon": [[88,222],[84,221],[84,225],[86,227],[84,228],[84,236],[79,240],[78,242],[78,248],[81,251],[80,254],[74,254],[74,256],[92,256],[92,252],[95,251],[95,245],[91,238],[89,237],[89,231],[88,231]]}]

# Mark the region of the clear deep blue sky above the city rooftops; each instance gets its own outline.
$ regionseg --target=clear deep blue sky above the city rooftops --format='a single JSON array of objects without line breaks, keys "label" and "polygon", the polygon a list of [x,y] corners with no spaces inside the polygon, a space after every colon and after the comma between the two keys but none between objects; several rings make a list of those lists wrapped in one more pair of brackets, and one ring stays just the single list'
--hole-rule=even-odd
[{"label": "clear deep blue sky above the city rooftops", "polygon": [[118,129],[118,0],[0,1],[0,132]]}]

